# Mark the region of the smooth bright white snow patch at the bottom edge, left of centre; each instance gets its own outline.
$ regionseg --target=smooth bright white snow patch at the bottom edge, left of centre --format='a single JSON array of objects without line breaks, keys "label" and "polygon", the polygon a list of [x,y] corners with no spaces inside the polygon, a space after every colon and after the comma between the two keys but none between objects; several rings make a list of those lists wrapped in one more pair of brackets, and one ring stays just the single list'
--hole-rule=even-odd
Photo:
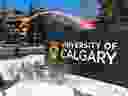
[{"label": "smooth bright white snow patch at the bottom edge, left of centre", "polygon": [[7,90],[7,96],[74,96],[72,88],[48,83],[19,82]]}]

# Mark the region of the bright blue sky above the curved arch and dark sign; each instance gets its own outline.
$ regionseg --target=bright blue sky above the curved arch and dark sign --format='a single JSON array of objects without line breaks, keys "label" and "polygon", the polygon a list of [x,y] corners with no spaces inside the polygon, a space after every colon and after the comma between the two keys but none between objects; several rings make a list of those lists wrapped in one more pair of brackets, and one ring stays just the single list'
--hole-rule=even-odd
[{"label": "bright blue sky above the curved arch and dark sign", "polygon": [[28,5],[32,2],[34,8],[61,8],[74,15],[96,15],[96,0],[27,0],[26,4],[25,0],[0,0],[0,8],[3,1],[6,1],[7,8],[17,8],[26,12],[30,9]]}]

